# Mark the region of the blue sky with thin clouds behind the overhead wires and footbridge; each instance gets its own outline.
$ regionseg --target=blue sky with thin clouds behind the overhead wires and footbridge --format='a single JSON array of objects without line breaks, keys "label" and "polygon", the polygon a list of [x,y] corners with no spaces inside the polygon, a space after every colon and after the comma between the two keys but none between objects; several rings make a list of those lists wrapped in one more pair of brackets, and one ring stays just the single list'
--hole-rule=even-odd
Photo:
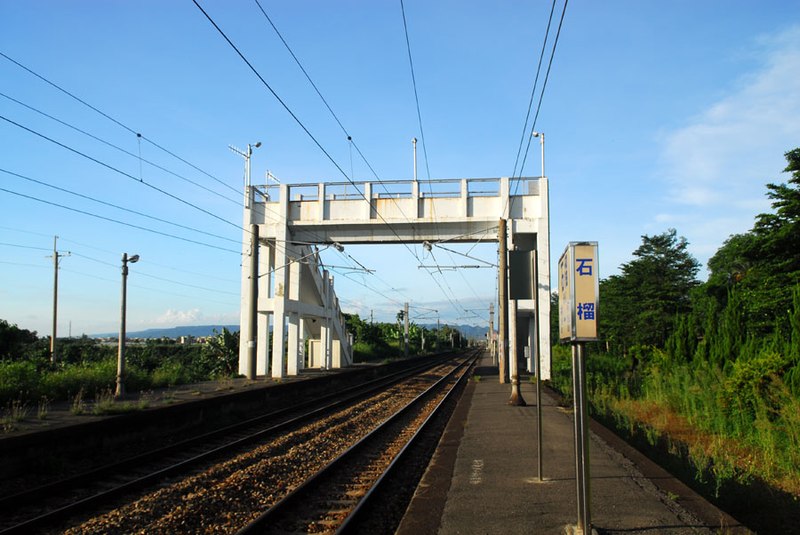
[{"label": "blue sky with thin clouds behind the overhead wires and footbridge", "polygon": [[[357,154],[351,166],[344,134],[255,2],[200,3],[345,172],[371,178]],[[262,5],[380,178],[410,178],[420,133],[399,1]],[[405,8],[431,177],[509,176],[550,3]],[[243,162],[227,146],[263,143],[254,181],[267,170],[285,183],[344,178],[189,0],[0,2],[0,52],[130,129],[0,57],[0,318],[20,327],[50,333],[54,235],[72,253],[59,272],[60,335],[117,329],[123,252],[141,255],[129,330],[238,323]],[[643,234],[674,227],[705,264],[768,209],[765,184],[785,180],[783,153],[800,145],[798,72],[796,2],[570,2],[536,127],[546,134],[553,261],[569,241],[596,240],[605,277]],[[539,166],[534,144],[524,174]],[[461,250],[496,255],[487,244]],[[434,252],[441,264],[464,263]],[[419,322],[435,321],[435,309],[442,321],[485,324],[492,270],[444,279],[400,246],[346,253],[376,270],[335,273],[346,311],[390,320],[409,301]]]}]

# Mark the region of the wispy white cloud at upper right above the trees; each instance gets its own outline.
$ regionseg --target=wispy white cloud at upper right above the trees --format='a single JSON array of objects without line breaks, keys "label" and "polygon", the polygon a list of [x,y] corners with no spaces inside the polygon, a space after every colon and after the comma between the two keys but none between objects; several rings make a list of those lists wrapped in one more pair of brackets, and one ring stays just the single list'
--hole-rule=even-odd
[{"label": "wispy white cloud at upper right above the trees", "polygon": [[686,126],[667,134],[660,174],[671,200],[749,214],[800,140],[800,26],[757,44],[761,67]]}]

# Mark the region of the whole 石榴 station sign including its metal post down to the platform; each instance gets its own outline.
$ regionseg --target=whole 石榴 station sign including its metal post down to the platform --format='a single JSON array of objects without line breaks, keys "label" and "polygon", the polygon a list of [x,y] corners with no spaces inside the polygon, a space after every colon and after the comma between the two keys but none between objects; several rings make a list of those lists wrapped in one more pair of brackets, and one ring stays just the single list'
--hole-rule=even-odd
[{"label": "whole \u77f3\u69b4 station sign including its metal post down to the platform", "polygon": [[572,344],[578,533],[591,532],[585,343],[597,340],[597,242],[570,242],[558,261],[558,337]]}]

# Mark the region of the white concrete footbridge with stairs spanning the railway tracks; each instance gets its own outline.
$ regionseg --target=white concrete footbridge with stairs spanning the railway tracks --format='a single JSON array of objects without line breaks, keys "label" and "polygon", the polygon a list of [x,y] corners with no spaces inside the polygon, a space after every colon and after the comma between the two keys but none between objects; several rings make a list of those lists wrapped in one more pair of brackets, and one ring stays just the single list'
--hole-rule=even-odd
[{"label": "white concrete footbridge with stairs spanning the railway tracks", "polygon": [[536,251],[539,274],[539,310],[534,299],[509,308],[516,310],[509,354],[532,371],[538,345],[548,379],[548,196],[546,177],[246,185],[240,373],[281,378],[352,363],[333,277],[319,262],[318,246],[496,243],[505,219],[508,250]]}]

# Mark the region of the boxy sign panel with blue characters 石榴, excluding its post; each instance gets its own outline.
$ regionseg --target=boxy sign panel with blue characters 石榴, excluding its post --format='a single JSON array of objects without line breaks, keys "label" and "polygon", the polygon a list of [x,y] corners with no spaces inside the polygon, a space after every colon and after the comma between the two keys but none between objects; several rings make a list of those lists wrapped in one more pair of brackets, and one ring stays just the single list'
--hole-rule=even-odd
[{"label": "boxy sign panel with blue characters \u77f3\u69b4, excluding its post", "polygon": [[558,261],[558,338],[596,341],[599,301],[597,242],[570,242]]}]

